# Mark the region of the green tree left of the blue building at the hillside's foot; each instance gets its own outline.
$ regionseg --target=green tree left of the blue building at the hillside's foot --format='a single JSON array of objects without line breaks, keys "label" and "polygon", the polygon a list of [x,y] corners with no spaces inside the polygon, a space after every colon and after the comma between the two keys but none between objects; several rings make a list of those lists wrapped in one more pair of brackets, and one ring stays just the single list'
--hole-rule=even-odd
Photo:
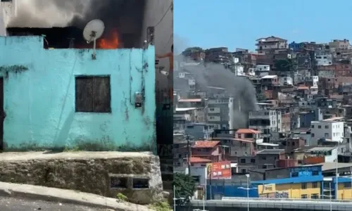
[{"label": "green tree left of the blue building at the hillside's foot", "polygon": [[184,198],[184,200],[177,200],[177,204],[189,203],[196,191],[196,182],[189,174],[174,173],[173,186],[176,192],[175,198]]}]

